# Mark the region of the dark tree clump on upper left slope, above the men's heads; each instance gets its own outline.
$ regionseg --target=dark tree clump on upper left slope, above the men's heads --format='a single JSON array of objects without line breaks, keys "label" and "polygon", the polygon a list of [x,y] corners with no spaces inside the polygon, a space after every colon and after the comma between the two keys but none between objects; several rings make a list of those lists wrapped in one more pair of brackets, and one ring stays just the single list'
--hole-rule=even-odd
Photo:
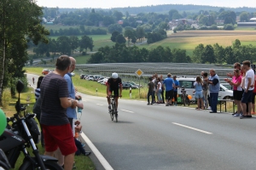
[{"label": "dark tree clump on upper left slope, above the men's heads", "polygon": [[[76,36],[61,36],[56,40],[49,38],[49,43],[39,42],[38,46],[33,49],[36,54],[34,58],[42,57],[44,54],[49,57],[52,54],[73,54],[73,51],[79,48],[79,52],[86,54],[89,48],[92,51],[94,45],[91,37],[83,36],[81,39]],[[31,59],[32,62],[32,59]]]}]

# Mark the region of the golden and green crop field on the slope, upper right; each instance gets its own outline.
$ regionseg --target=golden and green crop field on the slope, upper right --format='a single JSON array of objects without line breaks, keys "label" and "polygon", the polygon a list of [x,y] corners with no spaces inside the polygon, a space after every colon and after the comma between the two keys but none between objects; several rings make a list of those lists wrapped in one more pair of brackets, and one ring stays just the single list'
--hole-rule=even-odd
[{"label": "golden and green crop field on the slope, upper right", "polygon": [[242,45],[256,45],[256,31],[180,31],[168,36],[166,39],[152,44],[140,45],[140,48],[156,48],[158,46],[182,48],[192,55],[193,50],[200,43],[204,45],[218,43],[227,47],[239,39]]}]

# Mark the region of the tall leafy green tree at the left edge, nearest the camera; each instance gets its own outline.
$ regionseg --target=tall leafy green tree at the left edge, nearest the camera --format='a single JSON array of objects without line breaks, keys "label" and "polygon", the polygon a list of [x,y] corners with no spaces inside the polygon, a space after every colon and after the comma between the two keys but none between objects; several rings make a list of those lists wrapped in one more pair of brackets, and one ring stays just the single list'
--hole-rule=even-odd
[{"label": "tall leafy green tree at the left edge, nearest the camera", "polygon": [[15,94],[15,78],[24,77],[27,42],[47,42],[49,31],[41,25],[42,8],[30,0],[0,1],[0,102],[3,88]]}]

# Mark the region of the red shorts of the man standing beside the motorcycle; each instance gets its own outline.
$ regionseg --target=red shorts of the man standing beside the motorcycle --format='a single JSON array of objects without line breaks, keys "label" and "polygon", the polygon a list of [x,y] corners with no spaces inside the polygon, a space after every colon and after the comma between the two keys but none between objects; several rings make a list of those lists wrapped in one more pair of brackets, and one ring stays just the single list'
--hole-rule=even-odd
[{"label": "red shorts of the man standing beside the motorcycle", "polygon": [[61,126],[42,125],[42,127],[45,151],[53,152],[59,147],[63,156],[73,154],[77,151],[69,123]]}]

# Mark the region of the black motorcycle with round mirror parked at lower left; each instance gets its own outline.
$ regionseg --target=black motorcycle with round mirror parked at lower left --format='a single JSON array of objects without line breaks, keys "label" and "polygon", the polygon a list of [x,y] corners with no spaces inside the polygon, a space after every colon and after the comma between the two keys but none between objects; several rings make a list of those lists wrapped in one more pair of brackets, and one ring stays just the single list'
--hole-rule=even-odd
[{"label": "black motorcycle with round mirror parked at lower left", "polygon": [[[39,155],[38,137],[40,131],[38,123],[35,121],[35,114],[26,113],[26,105],[20,104],[20,92],[24,88],[24,84],[20,81],[17,83],[17,91],[19,93],[18,101],[15,109],[17,113],[7,118],[7,128],[0,136],[0,148],[7,156],[11,167],[15,168],[20,153],[23,152],[24,160],[19,167],[20,170],[61,170],[57,159],[51,156]],[[23,111],[23,114],[22,114]],[[32,147],[32,156],[26,148]]]}]

